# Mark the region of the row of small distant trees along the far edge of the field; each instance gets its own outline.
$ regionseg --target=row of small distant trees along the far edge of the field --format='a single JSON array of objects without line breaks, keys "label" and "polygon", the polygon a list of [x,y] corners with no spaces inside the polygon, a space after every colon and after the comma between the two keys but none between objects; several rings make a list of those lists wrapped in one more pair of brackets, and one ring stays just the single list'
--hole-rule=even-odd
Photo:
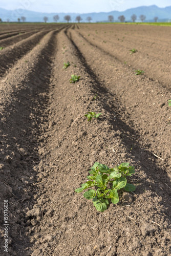
[{"label": "row of small distant trees along the far edge of the field", "polygon": [[[143,14],[139,16],[139,19],[141,20],[141,22],[144,22],[145,18],[146,18],[146,16],[143,15]],[[71,21],[71,16],[70,16],[70,15],[66,15],[66,16],[64,16],[64,19],[66,20],[66,22],[69,23],[69,22]],[[137,15],[136,15],[136,14],[133,14],[133,15],[131,16],[131,19],[132,19],[132,22],[135,22],[135,21],[137,20]],[[26,22],[26,17],[22,16],[22,17],[20,17],[20,18],[17,18],[17,20],[18,20],[18,22],[20,22],[20,20],[22,20],[22,22]],[[47,23],[48,17],[45,16],[45,17],[43,18],[43,20],[44,20],[45,23]],[[54,20],[54,22],[58,22],[58,20],[59,20],[59,15],[54,15],[54,16],[53,16],[53,20]],[[80,21],[82,20],[82,18],[81,18],[80,15],[78,15],[75,20],[76,20],[78,23],[80,23]],[[92,20],[92,17],[89,16],[89,17],[86,18],[86,20],[90,23],[91,20]],[[114,16],[113,16],[113,15],[109,15],[109,16],[108,16],[108,20],[109,20],[109,22],[114,22]],[[125,22],[125,16],[124,16],[124,15],[120,15],[120,16],[118,17],[118,20],[119,20],[120,22],[122,22],[122,23]],[[154,17],[154,20],[155,20],[155,22],[157,22],[158,17]],[[3,22],[3,20],[0,18],[0,23],[2,23],[2,22]],[[7,19],[7,22],[10,22],[10,19]]]}]

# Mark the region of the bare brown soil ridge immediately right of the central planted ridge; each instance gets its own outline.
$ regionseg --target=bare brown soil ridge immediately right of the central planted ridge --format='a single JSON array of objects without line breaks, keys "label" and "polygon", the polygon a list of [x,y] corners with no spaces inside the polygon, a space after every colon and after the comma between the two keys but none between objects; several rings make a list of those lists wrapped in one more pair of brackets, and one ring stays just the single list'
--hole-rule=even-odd
[{"label": "bare brown soil ridge immediately right of the central planted ridge", "polygon": [[[72,31],[72,35],[96,76],[119,98],[119,104],[125,108],[125,119],[133,122],[132,127],[140,134],[142,146],[147,148],[150,154],[157,154],[165,159],[165,169],[171,177],[167,168],[171,163],[170,113],[167,106],[167,100],[171,97],[170,92],[161,89],[161,84],[157,81],[145,76],[135,76],[133,71],[110,54],[106,55],[99,48],[92,48],[86,39],[83,40],[83,45],[80,42],[80,38],[83,38],[75,31]],[[89,49],[88,54],[87,49]],[[157,163],[163,166],[160,160],[157,160]]]}]

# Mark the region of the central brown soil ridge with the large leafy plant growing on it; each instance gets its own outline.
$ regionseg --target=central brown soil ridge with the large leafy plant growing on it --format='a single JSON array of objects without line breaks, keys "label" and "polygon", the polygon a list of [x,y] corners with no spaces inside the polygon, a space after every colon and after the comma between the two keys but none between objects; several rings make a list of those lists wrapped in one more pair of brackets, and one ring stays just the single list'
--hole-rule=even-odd
[{"label": "central brown soil ridge with the large leafy plant growing on it", "polygon": [[[170,190],[154,175],[161,174],[161,169],[149,157],[149,152],[146,152],[147,156],[141,154],[143,148],[137,142],[139,135],[125,119],[124,107],[116,94],[105,87],[105,80],[102,81],[92,68],[89,55],[84,56],[77,35],[73,33],[74,30],[69,29],[57,35],[48,122],[45,133],[38,140],[42,143],[39,149],[41,162],[37,166],[41,174],[34,208],[39,209],[41,205],[44,215],[41,215],[38,230],[32,231],[33,255],[40,254],[45,247],[50,255],[60,255],[62,251],[66,256],[110,256],[116,253],[121,256],[123,249],[127,256],[135,251],[137,255],[141,255],[141,251],[160,254],[162,238],[170,237],[170,205],[167,201]],[[101,61],[93,52],[90,54]],[[64,61],[70,61],[66,70],[62,69]],[[105,69],[102,73],[104,75]],[[70,83],[71,74],[79,75],[80,80]],[[88,122],[84,117],[88,111],[102,115],[99,120]],[[131,143],[135,146],[134,152],[131,152]],[[136,168],[132,178],[137,184],[135,193],[121,193],[120,203],[111,204],[104,213],[97,212],[91,201],[74,192],[87,181],[88,170],[96,161],[111,168],[121,162],[130,162]],[[167,184],[170,186],[168,180]],[[126,196],[130,201],[125,201]],[[161,226],[154,226],[153,222]],[[145,225],[153,228],[153,234],[144,236],[141,230]],[[29,232],[31,229],[29,227]],[[37,232],[39,243],[36,242]],[[153,236],[157,243],[152,247]],[[140,246],[130,247],[135,237]],[[50,241],[49,246],[47,241]],[[169,254],[169,246],[162,251]]]}]

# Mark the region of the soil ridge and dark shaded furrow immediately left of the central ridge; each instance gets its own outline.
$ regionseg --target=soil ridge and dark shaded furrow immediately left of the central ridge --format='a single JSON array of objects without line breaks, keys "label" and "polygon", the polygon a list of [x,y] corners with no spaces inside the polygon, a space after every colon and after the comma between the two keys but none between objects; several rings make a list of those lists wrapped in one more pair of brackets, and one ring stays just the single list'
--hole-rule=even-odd
[{"label": "soil ridge and dark shaded furrow immediately left of the central ridge", "polygon": [[[27,54],[27,63],[20,59],[4,80],[0,81],[0,192],[1,199],[10,198],[11,203],[8,205],[11,213],[8,237],[11,241],[8,250],[10,255],[30,254],[28,225],[31,222],[26,213],[33,207],[33,195],[37,193],[34,186],[37,179],[36,166],[40,161],[37,139],[42,132],[43,121],[47,121],[45,109],[51,63],[56,51],[56,34],[61,29],[49,32],[41,44]],[[4,256],[3,251],[1,255]]]}]

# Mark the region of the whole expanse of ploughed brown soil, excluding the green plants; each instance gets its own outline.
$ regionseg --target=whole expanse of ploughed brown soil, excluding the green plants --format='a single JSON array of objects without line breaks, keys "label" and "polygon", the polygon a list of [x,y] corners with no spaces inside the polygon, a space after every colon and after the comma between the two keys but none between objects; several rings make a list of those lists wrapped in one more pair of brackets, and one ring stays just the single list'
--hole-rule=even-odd
[{"label": "whole expanse of ploughed brown soil, excluding the green plants", "polygon": [[[1,255],[6,199],[9,255],[170,255],[170,28],[63,27],[0,53]],[[102,115],[88,122],[88,111]],[[95,161],[136,169],[135,193],[104,212],[75,193]]]}]

